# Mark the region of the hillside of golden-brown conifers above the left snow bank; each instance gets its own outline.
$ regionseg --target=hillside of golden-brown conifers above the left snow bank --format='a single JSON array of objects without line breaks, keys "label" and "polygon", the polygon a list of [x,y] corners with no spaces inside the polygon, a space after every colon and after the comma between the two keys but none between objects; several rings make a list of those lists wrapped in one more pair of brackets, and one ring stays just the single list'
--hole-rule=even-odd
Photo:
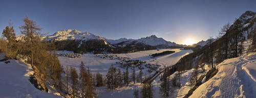
[{"label": "hillside of golden-brown conifers above the left snow bank", "polygon": [[24,35],[22,40],[16,40],[12,21],[9,21],[0,40],[0,52],[4,53],[8,59],[22,59],[31,64],[35,73],[30,76],[30,82],[37,89],[48,92],[47,83],[53,84],[56,89],[61,87],[60,79],[63,69],[54,52],[54,44],[41,41],[40,37],[44,34],[41,34],[42,28],[35,21],[29,20],[28,16],[22,20],[24,25],[19,27]]}]

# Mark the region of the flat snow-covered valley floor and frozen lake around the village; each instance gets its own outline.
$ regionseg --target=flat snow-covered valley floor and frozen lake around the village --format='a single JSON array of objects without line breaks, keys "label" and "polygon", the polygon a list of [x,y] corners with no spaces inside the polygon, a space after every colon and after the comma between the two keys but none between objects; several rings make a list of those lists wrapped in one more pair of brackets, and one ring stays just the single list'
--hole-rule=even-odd
[{"label": "flat snow-covered valley floor and frozen lake around the village", "polygon": [[[152,56],[149,56],[150,54],[161,53],[161,52],[167,51],[167,50],[175,51],[175,53],[164,55],[164,56],[158,56],[158,57],[156,57],[156,60],[151,58]],[[70,51],[57,51],[57,52],[58,53],[73,53]],[[148,50],[148,51],[140,51],[140,52],[135,52],[135,53],[124,53],[124,54],[114,54],[114,55],[117,55],[118,57],[129,57],[133,60],[146,61],[147,63],[159,63],[160,65],[162,65],[159,68],[163,68],[165,66],[165,64],[167,64],[167,66],[172,66],[181,57],[183,57],[189,53],[192,53],[192,52],[193,52],[192,50],[162,49],[160,51]],[[112,55],[112,54],[110,54],[110,55]],[[84,55],[81,55],[80,58],[70,58],[70,57],[66,57],[66,56],[59,56],[58,59],[60,60],[60,63],[64,68],[66,66],[75,67],[76,70],[78,71],[78,73],[79,73],[79,67],[80,67],[81,61],[83,61],[84,65],[86,65],[86,67],[89,67],[91,69],[92,73],[96,74],[97,72],[99,72],[103,76],[106,75],[111,64],[116,64],[116,62],[121,61],[119,59],[100,58],[101,56],[102,55],[96,56],[95,54],[84,54]],[[135,70],[136,70],[136,72],[139,71],[138,68],[136,68]],[[146,70],[146,69],[144,69],[144,70]]]}]

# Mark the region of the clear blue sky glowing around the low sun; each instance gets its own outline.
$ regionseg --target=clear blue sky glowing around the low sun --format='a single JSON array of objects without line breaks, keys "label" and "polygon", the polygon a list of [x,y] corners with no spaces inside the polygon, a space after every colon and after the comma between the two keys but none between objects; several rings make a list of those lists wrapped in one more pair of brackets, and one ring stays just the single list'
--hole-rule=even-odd
[{"label": "clear blue sky glowing around the low sun", "polygon": [[256,12],[255,0],[4,0],[0,30],[14,23],[16,35],[28,15],[48,35],[77,29],[107,39],[140,39],[151,35],[183,44],[215,38],[220,28],[246,11]]}]

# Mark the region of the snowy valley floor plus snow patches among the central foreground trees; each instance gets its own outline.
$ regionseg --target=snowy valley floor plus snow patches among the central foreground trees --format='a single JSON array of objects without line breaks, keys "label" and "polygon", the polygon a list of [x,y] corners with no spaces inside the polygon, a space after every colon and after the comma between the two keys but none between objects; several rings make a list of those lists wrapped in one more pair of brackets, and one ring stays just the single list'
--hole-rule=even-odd
[{"label": "snowy valley floor plus snow patches among the central foreground trees", "polygon": [[[168,54],[168,55],[163,55],[163,56],[158,56],[156,57],[156,60],[153,60],[150,54],[154,53],[161,53],[163,51],[175,51],[173,54]],[[57,51],[58,53],[72,53],[69,51]],[[149,51],[140,51],[140,52],[135,52],[135,53],[125,53],[125,54],[115,54],[119,57],[130,57],[133,60],[141,60],[141,61],[146,61],[146,63],[159,63],[161,67],[159,68],[164,68],[165,64],[166,66],[172,66],[175,64],[181,57],[192,53],[192,50],[180,50],[180,49],[162,49],[160,51],[157,50],[149,50]],[[101,54],[102,55],[102,54]],[[111,54],[110,54],[111,55]],[[72,66],[75,67],[76,70],[79,73],[79,67],[81,64],[81,61],[86,65],[86,67],[89,67],[91,69],[91,72],[96,74],[97,72],[101,73],[103,76],[106,75],[108,72],[111,64],[115,64],[118,61],[121,61],[119,59],[105,59],[105,58],[100,58],[100,56],[96,56],[95,54],[84,54],[80,58],[69,58],[65,56],[59,56],[58,59],[60,60],[60,63],[64,68],[66,66]],[[117,67],[117,66],[115,66]],[[119,67],[117,67],[119,68]],[[125,69],[119,68],[121,71],[124,71]],[[136,75],[139,73],[139,69],[136,68]],[[148,75],[148,70],[147,68],[144,67],[142,70],[144,75]],[[129,72],[132,73],[132,69],[129,69]],[[152,73],[152,75],[155,74],[155,72]],[[154,89],[154,96],[155,97],[161,97],[159,94],[159,86],[160,86],[160,76],[158,76],[153,82],[153,89]],[[186,80],[184,80],[186,81]],[[184,83],[183,83],[184,84]],[[184,84],[185,85],[185,84]],[[109,90],[106,89],[106,87],[96,87],[96,93],[98,93],[99,97],[134,97],[133,96],[133,91],[135,88],[140,89],[140,83],[135,83],[133,84],[132,82],[129,84],[128,87],[122,87],[118,88],[115,90]]]}]

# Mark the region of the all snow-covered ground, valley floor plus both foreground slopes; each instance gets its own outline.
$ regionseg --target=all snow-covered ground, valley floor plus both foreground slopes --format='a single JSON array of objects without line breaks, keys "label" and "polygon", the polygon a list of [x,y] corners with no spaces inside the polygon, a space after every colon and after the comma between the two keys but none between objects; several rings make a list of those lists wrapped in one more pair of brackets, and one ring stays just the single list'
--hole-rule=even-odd
[{"label": "all snow-covered ground, valley floor plus both foreground slopes", "polygon": [[[245,48],[249,43],[245,43]],[[160,53],[167,50],[173,50],[175,53],[151,58],[150,54]],[[160,51],[140,51],[127,54],[115,54],[119,57],[129,57],[134,60],[146,61],[147,63],[158,63],[162,65],[172,66],[181,57],[191,53],[191,50],[180,49],[162,49]],[[69,51],[58,51],[58,53],[73,53]],[[110,54],[111,55],[111,54]],[[103,76],[108,72],[111,64],[115,64],[119,59],[100,58],[94,54],[84,54],[80,58],[70,58],[59,56],[62,66],[73,66],[79,73],[81,61],[88,66],[92,73],[101,73]],[[3,54],[0,55],[3,59]],[[10,63],[0,62],[0,97],[61,97],[52,93],[45,93],[36,89],[29,82],[29,75],[33,74],[30,65],[20,60],[9,60]],[[117,67],[117,65],[116,65]],[[207,66],[206,66],[207,67]],[[216,68],[219,72],[209,79],[207,82],[199,86],[190,97],[255,97],[256,96],[256,55],[244,54],[238,58],[231,58],[218,64]],[[121,68],[119,68],[121,69]],[[121,69],[124,70],[124,69]],[[131,70],[131,69],[129,69]],[[209,70],[209,68],[206,68]],[[139,69],[136,68],[138,73]],[[146,69],[143,70],[145,74]],[[181,87],[172,87],[169,97],[183,97],[190,90],[188,79],[192,70],[181,73]],[[200,75],[206,72],[200,73]],[[199,75],[199,76],[200,76]],[[159,94],[160,76],[153,82],[154,97],[161,97]],[[170,77],[173,77],[171,75]],[[97,87],[96,93],[98,97],[134,97],[134,89],[140,89],[140,83],[130,83],[128,87],[122,87],[115,90],[106,89],[106,87]]]}]

